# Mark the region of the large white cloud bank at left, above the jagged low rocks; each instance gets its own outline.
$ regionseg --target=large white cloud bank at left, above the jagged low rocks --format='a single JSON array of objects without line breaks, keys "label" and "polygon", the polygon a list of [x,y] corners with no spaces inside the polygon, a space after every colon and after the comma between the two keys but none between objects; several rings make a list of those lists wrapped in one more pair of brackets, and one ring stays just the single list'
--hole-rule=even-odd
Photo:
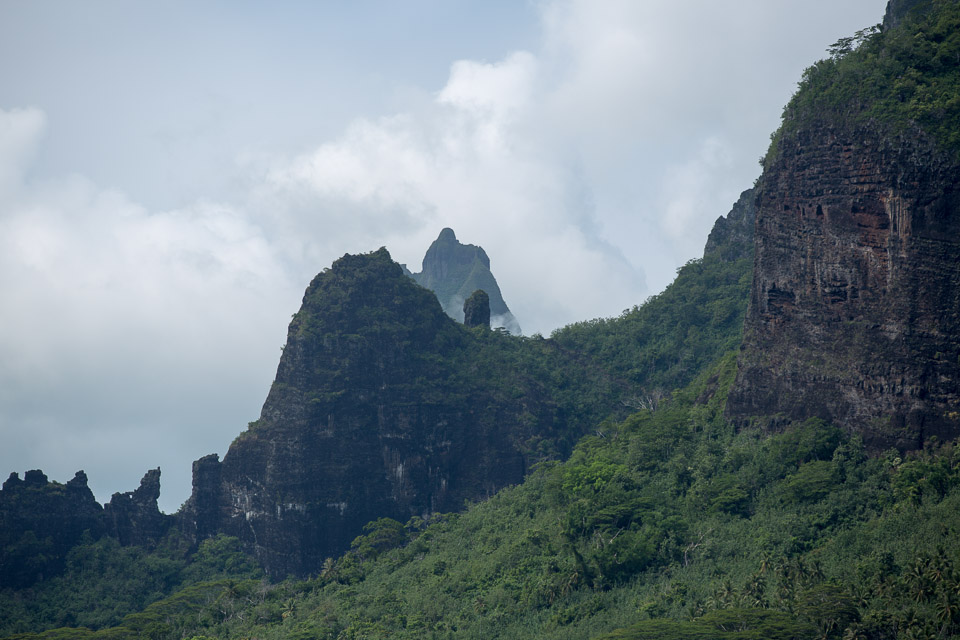
[{"label": "large white cloud bank at left, above the jagged low rocks", "polygon": [[301,284],[230,207],[151,213],[82,177],[30,180],[43,120],[0,110],[15,143],[0,144],[5,462],[69,479],[136,458],[122,484],[91,475],[101,499],[162,462],[165,498],[182,500],[190,456],[257,417],[284,339],[275,309],[295,310]]}]

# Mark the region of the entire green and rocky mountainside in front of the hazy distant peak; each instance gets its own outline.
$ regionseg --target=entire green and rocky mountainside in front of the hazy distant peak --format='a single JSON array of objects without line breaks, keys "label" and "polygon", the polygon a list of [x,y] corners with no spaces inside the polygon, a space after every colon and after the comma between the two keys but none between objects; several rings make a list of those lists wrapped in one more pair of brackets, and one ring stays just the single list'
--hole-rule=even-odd
[{"label": "entire green and rocky mountainside in front of the hazy distant peak", "polygon": [[960,637],[957,34],[960,2],[892,0],[838,41],[704,256],[619,317],[523,338],[478,294],[464,326],[344,256],[176,526],[154,472],[131,526],[82,474],[4,484],[33,582],[0,635]]}]

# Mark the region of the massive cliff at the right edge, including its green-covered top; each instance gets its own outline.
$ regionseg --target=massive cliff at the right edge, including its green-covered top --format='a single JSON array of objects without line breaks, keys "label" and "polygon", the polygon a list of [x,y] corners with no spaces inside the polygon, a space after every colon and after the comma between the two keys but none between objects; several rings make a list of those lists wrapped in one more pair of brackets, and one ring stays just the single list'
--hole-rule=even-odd
[{"label": "massive cliff at the right edge, including its green-covered top", "polygon": [[891,3],[787,106],[757,187],[739,423],[819,417],[876,450],[960,435],[958,27],[955,2]]}]

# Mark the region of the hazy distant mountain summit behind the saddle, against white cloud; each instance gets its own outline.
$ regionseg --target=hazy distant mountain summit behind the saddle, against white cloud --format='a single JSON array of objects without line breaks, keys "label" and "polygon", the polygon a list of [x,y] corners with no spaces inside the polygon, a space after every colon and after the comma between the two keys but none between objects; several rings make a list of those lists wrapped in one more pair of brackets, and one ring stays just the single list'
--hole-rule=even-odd
[{"label": "hazy distant mountain summit behind the saddle, against white cloud", "polygon": [[463,303],[476,290],[490,297],[490,326],[503,327],[519,335],[520,323],[503,301],[497,279],[490,271],[490,258],[482,247],[462,244],[453,229],[445,228],[423,257],[420,273],[410,277],[420,286],[433,291],[444,312],[463,322]]}]

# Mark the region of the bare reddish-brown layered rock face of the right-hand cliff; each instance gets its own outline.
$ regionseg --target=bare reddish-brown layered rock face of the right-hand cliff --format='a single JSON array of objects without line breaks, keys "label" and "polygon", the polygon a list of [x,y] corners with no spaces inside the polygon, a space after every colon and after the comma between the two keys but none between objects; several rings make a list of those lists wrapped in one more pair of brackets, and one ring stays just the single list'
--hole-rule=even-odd
[{"label": "bare reddish-brown layered rock face of the right-hand cliff", "polygon": [[916,130],[784,137],[762,179],[731,418],[820,417],[874,448],[960,435],[958,178]]}]

